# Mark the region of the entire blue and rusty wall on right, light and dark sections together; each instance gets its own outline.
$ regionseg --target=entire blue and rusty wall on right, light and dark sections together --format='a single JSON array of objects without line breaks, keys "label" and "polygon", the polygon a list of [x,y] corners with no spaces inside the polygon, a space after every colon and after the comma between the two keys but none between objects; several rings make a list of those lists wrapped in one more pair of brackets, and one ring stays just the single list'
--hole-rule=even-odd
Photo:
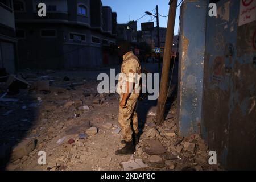
[{"label": "entire blue and rusty wall on right, light and dark sections together", "polygon": [[[212,2],[217,17],[206,11]],[[188,0],[181,7],[180,134],[201,130],[226,169],[256,169],[255,20],[256,1]]]}]

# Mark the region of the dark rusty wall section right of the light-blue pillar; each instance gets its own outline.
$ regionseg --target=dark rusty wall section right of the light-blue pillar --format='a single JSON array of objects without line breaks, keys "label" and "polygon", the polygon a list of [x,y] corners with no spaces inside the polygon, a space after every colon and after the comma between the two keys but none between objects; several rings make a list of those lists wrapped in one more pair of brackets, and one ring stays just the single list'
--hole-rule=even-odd
[{"label": "dark rusty wall section right of the light-blue pillar", "polygon": [[202,133],[226,168],[256,169],[256,22],[238,26],[240,2],[207,17]]}]

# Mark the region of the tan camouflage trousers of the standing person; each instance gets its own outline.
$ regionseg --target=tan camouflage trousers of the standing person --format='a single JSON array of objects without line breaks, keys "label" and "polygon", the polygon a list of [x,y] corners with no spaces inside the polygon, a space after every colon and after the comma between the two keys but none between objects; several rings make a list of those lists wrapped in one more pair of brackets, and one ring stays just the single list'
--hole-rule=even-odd
[{"label": "tan camouflage trousers of the standing person", "polygon": [[[127,100],[126,108],[121,108],[119,106],[118,122],[122,128],[123,139],[126,142],[133,140],[133,131],[135,134],[139,133],[138,117],[136,113],[137,99],[137,96],[131,95]],[[120,97],[120,101],[121,100],[122,96]]]}]

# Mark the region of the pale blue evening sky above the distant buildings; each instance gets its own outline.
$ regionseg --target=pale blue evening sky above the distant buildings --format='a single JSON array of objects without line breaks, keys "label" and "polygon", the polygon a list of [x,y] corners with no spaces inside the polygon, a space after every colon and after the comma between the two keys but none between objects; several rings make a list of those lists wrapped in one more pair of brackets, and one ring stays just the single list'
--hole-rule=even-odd
[{"label": "pale blue evening sky above the distant buildings", "polygon": [[[112,11],[117,12],[117,23],[127,23],[129,20],[137,20],[144,15],[145,11],[151,11],[152,14],[156,13],[155,7],[158,5],[159,14],[162,16],[168,15],[169,0],[101,0],[104,6],[110,6]],[[181,0],[178,0],[178,3]],[[176,23],[175,23],[175,35],[179,29],[179,14],[180,7],[177,9]],[[154,18],[154,17],[152,17]],[[141,30],[141,23],[154,21],[156,26],[156,18],[151,20],[150,16],[144,16],[138,20],[138,30]],[[160,27],[167,27],[168,17],[163,18],[159,16]]]}]

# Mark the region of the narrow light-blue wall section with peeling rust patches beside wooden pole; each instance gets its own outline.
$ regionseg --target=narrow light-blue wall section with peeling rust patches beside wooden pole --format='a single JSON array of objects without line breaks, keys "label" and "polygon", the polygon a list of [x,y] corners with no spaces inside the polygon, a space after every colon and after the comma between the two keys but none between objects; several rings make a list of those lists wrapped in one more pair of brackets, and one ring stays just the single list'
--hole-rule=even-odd
[{"label": "narrow light-blue wall section with peeling rust patches beside wooden pole", "polygon": [[205,51],[205,1],[184,1],[180,11],[179,131],[200,132]]}]

